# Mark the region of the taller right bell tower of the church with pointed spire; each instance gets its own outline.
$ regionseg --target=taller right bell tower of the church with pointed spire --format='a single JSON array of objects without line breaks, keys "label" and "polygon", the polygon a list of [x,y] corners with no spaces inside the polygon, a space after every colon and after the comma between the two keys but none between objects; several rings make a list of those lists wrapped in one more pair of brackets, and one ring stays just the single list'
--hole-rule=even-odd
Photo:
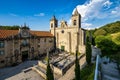
[{"label": "taller right bell tower of the church with pointed spire", "polygon": [[81,15],[78,13],[77,8],[75,9],[71,20],[72,20],[72,27],[81,28]]}]

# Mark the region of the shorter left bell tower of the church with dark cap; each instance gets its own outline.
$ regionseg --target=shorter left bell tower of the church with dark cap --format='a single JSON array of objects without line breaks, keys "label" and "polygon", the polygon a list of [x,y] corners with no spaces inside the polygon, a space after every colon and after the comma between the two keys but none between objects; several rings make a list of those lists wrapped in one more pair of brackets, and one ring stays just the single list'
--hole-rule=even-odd
[{"label": "shorter left bell tower of the church with dark cap", "polygon": [[55,35],[55,28],[57,28],[58,26],[58,20],[55,18],[55,16],[53,16],[50,19],[50,32]]}]

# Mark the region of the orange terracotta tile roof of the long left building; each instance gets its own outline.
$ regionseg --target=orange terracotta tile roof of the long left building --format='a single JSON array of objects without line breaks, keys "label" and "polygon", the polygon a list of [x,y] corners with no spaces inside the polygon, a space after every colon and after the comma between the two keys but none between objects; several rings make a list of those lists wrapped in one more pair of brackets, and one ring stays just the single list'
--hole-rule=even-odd
[{"label": "orange terracotta tile roof of the long left building", "polygon": [[[30,33],[40,37],[53,37],[53,35],[48,31],[30,31]],[[7,38],[17,34],[18,30],[0,30],[0,38]]]}]

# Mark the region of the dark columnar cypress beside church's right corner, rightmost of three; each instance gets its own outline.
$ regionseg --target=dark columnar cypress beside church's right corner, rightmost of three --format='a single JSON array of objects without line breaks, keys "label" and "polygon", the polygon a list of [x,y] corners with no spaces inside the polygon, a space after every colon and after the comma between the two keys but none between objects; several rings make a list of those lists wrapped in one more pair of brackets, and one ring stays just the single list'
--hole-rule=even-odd
[{"label": "dark columnar cypress beside church's right corner, rightmost of three", "polygon": [[91,43],[89,40],[89,37],[87,36],[87,41],[86,41],[86,61],[87,64],[91,64]]}]

